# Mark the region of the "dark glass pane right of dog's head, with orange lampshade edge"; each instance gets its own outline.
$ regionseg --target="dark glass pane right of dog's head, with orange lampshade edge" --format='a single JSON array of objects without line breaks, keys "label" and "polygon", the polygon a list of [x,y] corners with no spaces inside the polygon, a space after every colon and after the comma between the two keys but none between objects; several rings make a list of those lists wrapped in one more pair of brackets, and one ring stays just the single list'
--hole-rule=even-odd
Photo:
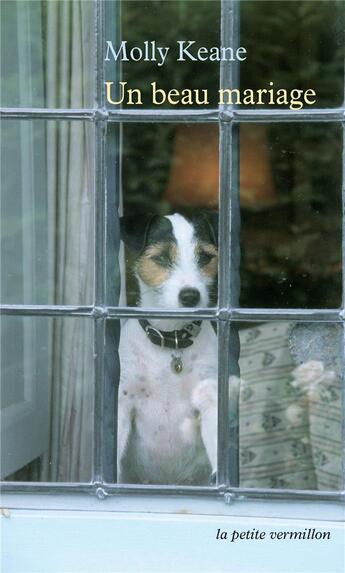
[{"label": "dark glass pane right of dog's head, with orange lampshade edge", "polygon": [[241,125],[242,306],[341,306],[341,186],[340,125]]}]

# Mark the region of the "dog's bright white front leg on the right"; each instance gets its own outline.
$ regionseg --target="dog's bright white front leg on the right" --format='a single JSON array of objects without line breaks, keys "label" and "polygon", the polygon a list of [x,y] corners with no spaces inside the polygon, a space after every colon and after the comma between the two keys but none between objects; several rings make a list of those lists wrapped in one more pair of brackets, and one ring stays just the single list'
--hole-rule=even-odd
[{"label": "dog's bright white front leg on the right", "polygon": [[193,392],[192,403],[200,415],[201,437],[214,475],[217,471],[217,382],[213,378],[200,382]]}]

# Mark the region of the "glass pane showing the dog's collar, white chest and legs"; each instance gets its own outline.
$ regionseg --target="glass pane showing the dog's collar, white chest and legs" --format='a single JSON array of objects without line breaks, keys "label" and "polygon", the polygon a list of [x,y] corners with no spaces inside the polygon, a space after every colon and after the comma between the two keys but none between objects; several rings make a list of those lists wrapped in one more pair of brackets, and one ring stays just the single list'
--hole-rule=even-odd
[{"label": "glass pane showing the dog's collar, white chest and legs", "polygon": [[122,324],[120,483],[215,483],[217,353],[209,321]]}]

